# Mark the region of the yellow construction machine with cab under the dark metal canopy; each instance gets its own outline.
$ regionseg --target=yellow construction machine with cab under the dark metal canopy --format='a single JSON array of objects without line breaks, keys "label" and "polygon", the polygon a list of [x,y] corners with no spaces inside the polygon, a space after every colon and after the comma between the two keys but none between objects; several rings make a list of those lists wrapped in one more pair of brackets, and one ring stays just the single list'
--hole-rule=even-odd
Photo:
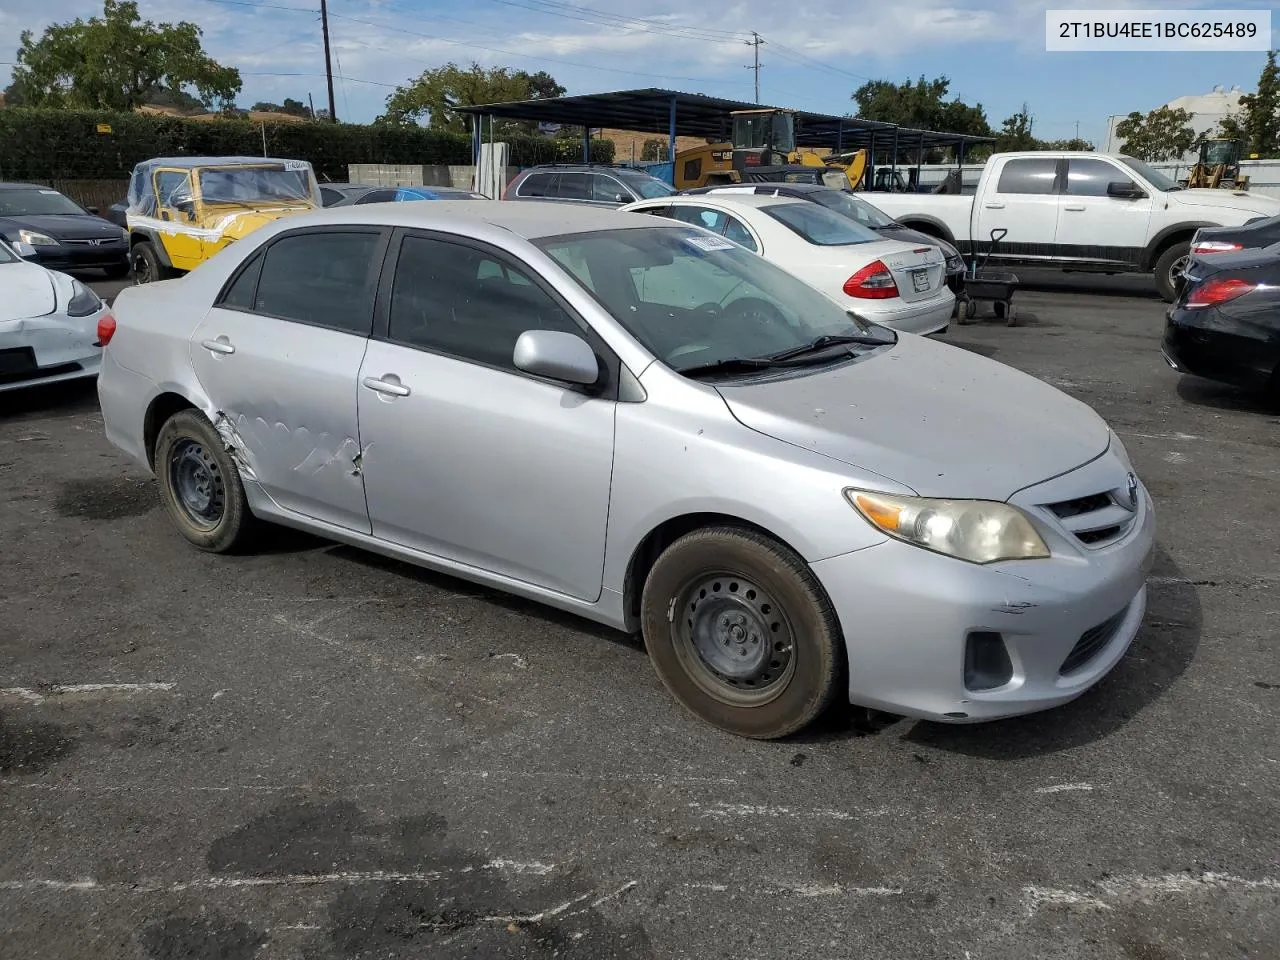
[{"label": "yellow construction machine with cab under the dark metal canopy", "polygon": [[676,189],[810,177],[854,189],[867,169],[864,150],[847,161],[797,150],[796,116],[791,110],[735,110],[730,119],[728,143],[708,143],[676,154]]}]

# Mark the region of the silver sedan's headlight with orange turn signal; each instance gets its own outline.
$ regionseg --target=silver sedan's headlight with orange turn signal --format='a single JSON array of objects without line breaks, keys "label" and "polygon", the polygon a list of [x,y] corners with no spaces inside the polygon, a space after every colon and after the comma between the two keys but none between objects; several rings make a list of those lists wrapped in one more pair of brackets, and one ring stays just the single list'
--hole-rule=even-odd
[{"label": "silver sedan's headlight with orange turn signal", "polygon": [[872,526],[934,553],[995,563],[1048,557],[1048,547],[1020,509],[992,500],[934,500],[845,490]]}]

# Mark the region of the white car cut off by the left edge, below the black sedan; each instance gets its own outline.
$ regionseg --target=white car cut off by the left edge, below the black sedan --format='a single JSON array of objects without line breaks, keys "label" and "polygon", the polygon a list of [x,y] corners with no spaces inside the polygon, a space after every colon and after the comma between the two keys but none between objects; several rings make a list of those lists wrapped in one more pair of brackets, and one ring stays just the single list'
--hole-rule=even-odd
[{"label": "white car cut off by the left edge, below the black sedan", "polygon": [[106,305],[79,280],[0,241],[0,392],[97,376]]}]

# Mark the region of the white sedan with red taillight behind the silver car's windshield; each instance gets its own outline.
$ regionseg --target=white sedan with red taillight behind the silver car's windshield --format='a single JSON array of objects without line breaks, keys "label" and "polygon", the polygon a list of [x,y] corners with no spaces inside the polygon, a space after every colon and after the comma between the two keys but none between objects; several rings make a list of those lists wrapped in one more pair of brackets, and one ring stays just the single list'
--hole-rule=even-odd
[{"label": "white sedan with red taillight behind the silver car's windshield", "polygon": [[704,227],[873,323],[918,334],[946,330],[951,323],[955,294],[938,247],[884,239],[819,204],[704,193],[641,200],[621,210]]}]

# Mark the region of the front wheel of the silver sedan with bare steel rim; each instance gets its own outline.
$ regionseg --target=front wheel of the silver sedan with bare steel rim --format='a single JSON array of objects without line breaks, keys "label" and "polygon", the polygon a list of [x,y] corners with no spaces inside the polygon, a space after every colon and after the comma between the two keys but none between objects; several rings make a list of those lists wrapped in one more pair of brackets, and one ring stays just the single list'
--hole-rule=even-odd
[{"label": "front wheel of the silver sedan with bare steel rim", "polygon": [[840,625],[818,580],[750,530],[695,530],[663,550],[644,584],[641,628],[667,690],[737,736],[804,728],[842,676]]}]

